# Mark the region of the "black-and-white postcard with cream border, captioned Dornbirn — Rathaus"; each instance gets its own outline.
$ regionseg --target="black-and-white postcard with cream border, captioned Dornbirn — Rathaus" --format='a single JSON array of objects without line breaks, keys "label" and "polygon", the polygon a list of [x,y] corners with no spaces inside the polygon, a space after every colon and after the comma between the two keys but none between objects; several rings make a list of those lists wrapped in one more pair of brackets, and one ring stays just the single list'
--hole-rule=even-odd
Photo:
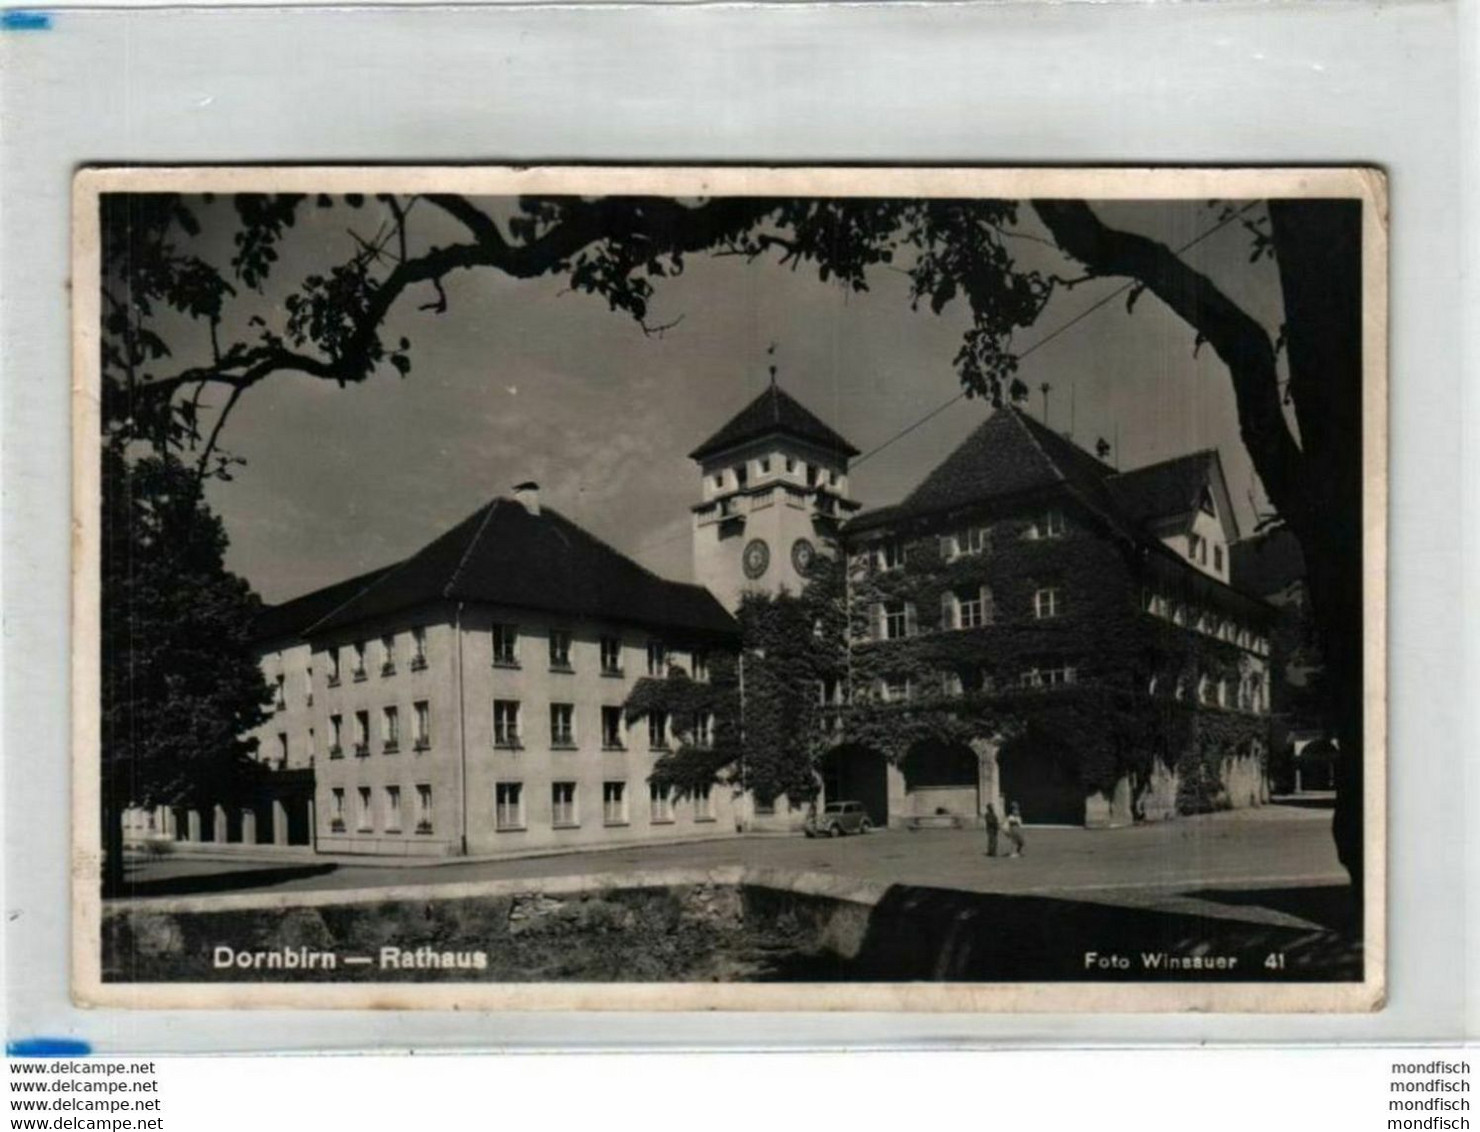
[{"label": "black-and-white postcard with cream border, captioned Dornbirn \u2014 Rathaus", "polygon": [[74,996],[1381,1008],[1385,192],[80,173]]}]

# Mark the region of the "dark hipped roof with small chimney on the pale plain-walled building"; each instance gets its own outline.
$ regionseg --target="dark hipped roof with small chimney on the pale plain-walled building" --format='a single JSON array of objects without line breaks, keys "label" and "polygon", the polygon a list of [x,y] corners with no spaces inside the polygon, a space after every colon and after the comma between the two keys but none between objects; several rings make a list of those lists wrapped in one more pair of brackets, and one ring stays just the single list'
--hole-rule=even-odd
[{"label": "dark hipped roof with small chimney on the pale plain-walled building", "polygon": [[471,601],[733,635],[734,619],[703,586],[644,570],[556,511],[494,499],[309,627],[345,629],[417,605]]}]

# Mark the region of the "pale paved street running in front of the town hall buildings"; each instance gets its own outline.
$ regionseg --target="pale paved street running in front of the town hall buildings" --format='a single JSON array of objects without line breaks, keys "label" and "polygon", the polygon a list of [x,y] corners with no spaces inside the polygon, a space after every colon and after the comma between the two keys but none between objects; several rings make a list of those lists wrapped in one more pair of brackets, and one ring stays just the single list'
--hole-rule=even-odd
[{"label": "pale paved street running in front of the town hall buildings", "polygon": [[[1005,839],[1003,839],[1005,845]],[[1029,829],[1021,858],[986,857],[980,830],[881,830],[838,840],[764,836],[437,867],[166,858],[130,869],[138,895],[303,891],[724,864],[977,892],[1063,895],[1270,923],[1326,922],[1345,885],[1331,811],[1274,805],[1120,830]]]}]

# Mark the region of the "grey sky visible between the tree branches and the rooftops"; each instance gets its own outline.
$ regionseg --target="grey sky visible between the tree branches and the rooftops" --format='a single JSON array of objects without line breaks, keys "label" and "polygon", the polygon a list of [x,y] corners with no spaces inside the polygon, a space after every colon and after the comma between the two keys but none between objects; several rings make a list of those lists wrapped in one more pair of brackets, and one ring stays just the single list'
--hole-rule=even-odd
[{"label": "grey sky visible between the tree branches and the rooftops", "polygon": [[[1116,203],[1100,212],[1174,247],[1218,223],[1205,201]],[[225,222],[229,212],[216,204],[203,216]],[[351,225],[373,231],[371,210],[308,210],[283,247],[277,278],[296,281],[343,259]],[[219,256],[226,231],[225,223],[209,229],[204,250]],[[1040,232],[1026,209],[1023,231]],[[1021,262],[1077,274],[1035,240],[1017,243]],[[1187,259],[1277,330],[1276,269],[1268,259],[1251,265],[1249,250],[1249,235],[1233,222]],[[1119,286],[1095,281],[1055,296],[1020,348]],[[388,323],[389,339],[413,342],[410,377],[388,371],[339,389],[278,376],[234,411],[225,444],[247,463],[210,487],[210,502],[231,536],[229,567],[266,601],[403,558],[522,479],[539,481],[548,506],[644,565],[688,579],[699,474],[685,453],[765,386],[771,342],[781,385],[864,453],[961,391],[952,358],[963,312],[912,311],[900,274],[885,272],[857,294],[815,272],[691,259],[681,278],[662,284],[653,321],[679,321],[660,337],[559,281],[460,272],[447,293],[447,314],[417,309],[428,290],[403,296]],[[269,321],[274,299],[269,290],[258,308]],[[1119,294],[1058,333],[1024,360],[1021,377],[1036,414],[1039,385],[1052,385],[1055,429],[1070,428],[1073,407],[1083,447],[1119,438],[1111,456],[1119,466],[1217,447],[1245,530],[1251,491],[1262,506],[1227,370],[1208,348],[1194,357],[1191,331],[1150,294],[1134,311]],[[854,496],[866,506],[898,500],[986,413],[980,401],[961,401],[867,457],[854,474]]]}]

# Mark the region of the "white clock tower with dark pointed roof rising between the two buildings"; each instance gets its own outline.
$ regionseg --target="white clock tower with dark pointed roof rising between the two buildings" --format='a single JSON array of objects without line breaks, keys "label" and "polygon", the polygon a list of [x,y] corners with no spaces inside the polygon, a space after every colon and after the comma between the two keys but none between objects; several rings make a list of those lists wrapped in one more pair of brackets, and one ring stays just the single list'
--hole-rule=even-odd
[{"label": "white clock tower with dark pointed roof rising between the two buildings", "polygon": [[858,454],[776,383],[688,456],[699,463],[694,580],[728,610],[747,590],[801,590],[811,559],[858,509]]}]

